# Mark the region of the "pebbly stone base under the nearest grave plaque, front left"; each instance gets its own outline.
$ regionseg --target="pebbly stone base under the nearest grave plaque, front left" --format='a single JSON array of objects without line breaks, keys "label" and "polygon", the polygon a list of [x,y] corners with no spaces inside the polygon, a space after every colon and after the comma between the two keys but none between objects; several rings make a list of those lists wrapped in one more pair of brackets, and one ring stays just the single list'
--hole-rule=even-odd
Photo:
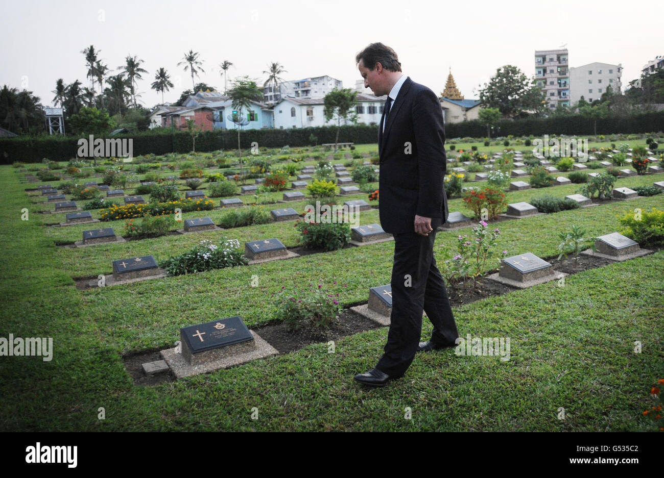
[{"label": "pebbly stone base under the nearest grave plaque, front left", "polygon": [[[176,379],[191,377],[192,375],[199,375],[201,373],[213,372],[219,369],[228,369],[234,365],[241,365],[242,363],[247,363],[252,360],[264,359],[265,357],[278,355],[279,352],[277,349],[264,341],[264,339],[262,339],[258,333],[254,332],[253,330],[250,330],[250,332],[254,336],[255,347],[252,350],[233,353],[233,345],[229,345],[228,347],[222,347],[222,349],[216,349],[228,349],[228,353],[226,355],[220,354],[218,359],[206,363],[201,363],[199,365],[190,365],[183,354],[177,353],[175,348],[162,350],[160,354],[169,365],[169,367],[171,367],[171,371],[173,372],[173,375],[175,375]],[[181,347],[186,346],[186,344],[181,345]]]}]

